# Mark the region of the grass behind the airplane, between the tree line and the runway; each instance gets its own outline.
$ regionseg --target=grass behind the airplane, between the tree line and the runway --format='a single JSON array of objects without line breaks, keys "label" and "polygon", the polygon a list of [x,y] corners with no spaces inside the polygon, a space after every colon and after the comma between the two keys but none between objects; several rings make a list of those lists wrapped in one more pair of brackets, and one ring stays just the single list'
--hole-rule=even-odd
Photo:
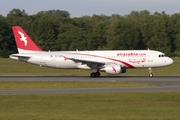
[{"label": "grass behind the airplane, between the tree line and the runway", "polygon": [[[174,58],[174,63],[168,67],[153,68],[154,75],[180,75],[180,58]],[[91,70],[53,69],[39,67],[28,63],[0,58],[0,75],[90,75]],[[101,72],[101,75],[107,75]],[[149,75],[148,69],[128,69],[120,75]]]}]

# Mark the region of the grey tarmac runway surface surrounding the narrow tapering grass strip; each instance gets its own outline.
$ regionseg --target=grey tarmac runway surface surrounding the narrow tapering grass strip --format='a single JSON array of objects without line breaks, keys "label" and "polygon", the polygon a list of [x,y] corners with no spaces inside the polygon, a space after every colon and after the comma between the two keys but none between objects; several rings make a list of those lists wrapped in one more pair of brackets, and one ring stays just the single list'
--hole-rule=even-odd
[{"label": "grey tarmac runway surface surrounding the narrow tapering grass strip", "polygon": [[0,90],[0,94],[60,94],[60,93],[111,93],[111,92],[165,92],[180,91],[180,76],[0,76],[0,82],[136,82],[152,83],[157,86],[112,87],[112,88],[65,88],[65,89],[21,89]]}]

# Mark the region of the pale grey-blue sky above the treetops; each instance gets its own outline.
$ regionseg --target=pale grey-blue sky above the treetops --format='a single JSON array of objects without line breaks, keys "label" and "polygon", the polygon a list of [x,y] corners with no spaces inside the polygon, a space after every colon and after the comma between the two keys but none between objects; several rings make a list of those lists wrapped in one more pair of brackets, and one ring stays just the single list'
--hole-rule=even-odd
[{"label": "pale grey-blue sky above the treetops", "polygon": [[131,11],[180,12],[180,0],[0,0],[0,14],[6,16],[13,8],[25,10],[28,15],[47,10],[65,10],[70,17],[85,15],[127,15]]}]

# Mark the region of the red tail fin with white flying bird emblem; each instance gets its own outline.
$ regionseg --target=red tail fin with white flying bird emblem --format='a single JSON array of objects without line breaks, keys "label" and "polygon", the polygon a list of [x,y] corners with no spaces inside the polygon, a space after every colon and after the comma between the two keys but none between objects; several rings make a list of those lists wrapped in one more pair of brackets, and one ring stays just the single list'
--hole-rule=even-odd
[{"label": "red tail fin with white flying bird emblem", "polygon": [[13,26],[12,29],[19,53],[42,51],[20,26]]}]

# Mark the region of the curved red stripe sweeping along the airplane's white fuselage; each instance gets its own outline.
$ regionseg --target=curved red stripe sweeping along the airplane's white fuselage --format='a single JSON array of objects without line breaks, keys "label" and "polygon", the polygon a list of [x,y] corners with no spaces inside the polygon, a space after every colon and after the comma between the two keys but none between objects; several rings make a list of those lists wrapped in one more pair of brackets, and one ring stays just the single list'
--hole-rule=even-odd
[{"label": "curved red stripe sweeping along the airplane's white fuselage", "polygon": [[108,58],[108,57],[103,57],[103,56],[98,56],[98,55],[91,55],[91,54],[83,54],[83,53],[69,53],[69,52],[63,52],[63,53],[85,55],[85,56],[93,56],[93,57],[100,57],[100,58],[104,58],[104,59],[108,59],[108,60],[112,60],[112,61],[123,63],[124,65],[128,66],[129,68],[135,68],[134,66],[132,66],[129,63],[126,63],[126,62],[121,61],[121,60],[113,59],[113,58]]}]

